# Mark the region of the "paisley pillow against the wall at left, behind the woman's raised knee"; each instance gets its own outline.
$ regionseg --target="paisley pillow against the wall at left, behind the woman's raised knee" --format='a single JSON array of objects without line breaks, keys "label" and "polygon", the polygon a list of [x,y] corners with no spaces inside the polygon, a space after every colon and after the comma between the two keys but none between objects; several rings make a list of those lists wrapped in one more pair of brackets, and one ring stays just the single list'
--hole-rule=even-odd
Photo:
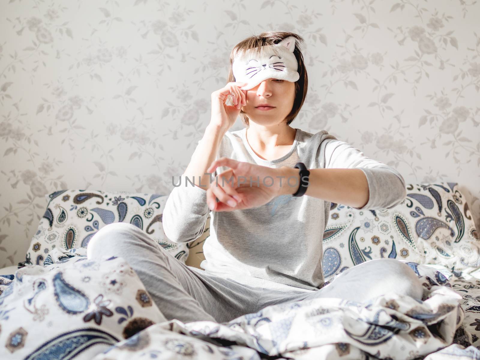
[{"label": "paisley pillow against the wall at left, behind the woman's raised knee", "polygon": [[120,221],[144,230],[178,260],[185,263],[188,257],[187,245],[168,240],[163,232],[162,213],[168,195],[60,190],[45,197],[47,210],[19,267],[51,264],[55,258],[50,253],[57,247],[86,255],[86,246],[96,232]]}]

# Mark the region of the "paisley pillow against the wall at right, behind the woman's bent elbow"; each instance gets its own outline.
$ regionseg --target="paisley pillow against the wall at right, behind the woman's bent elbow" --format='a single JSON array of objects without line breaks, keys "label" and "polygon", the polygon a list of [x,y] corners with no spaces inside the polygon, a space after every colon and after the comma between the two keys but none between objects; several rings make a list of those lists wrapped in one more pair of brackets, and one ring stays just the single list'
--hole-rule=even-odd
[{"label": "paisley pillow against the wall at right, behind the woman's bent elbow", "polygon": [[408,184],[392,209],[358,210],[332,203],[323,238],[325,281],[383,257],[470,272],[480,267],[480,242],[458,184]]}]

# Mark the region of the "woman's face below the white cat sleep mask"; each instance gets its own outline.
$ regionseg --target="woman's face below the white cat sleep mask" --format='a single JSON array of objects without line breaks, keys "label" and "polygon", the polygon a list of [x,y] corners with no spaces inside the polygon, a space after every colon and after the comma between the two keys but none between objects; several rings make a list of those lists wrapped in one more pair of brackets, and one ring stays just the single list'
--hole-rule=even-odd
[{"label": "woman's face below the white cat sleep mask", "polygon": [[[281,123],[290,113],[295,100],[295,83],[280,79],[266,79],[252,89],[246,90],[247,105],[241,110],[249,121],[258,125],[269,126]],[[260,104],[273,108],[262,110]]]}]

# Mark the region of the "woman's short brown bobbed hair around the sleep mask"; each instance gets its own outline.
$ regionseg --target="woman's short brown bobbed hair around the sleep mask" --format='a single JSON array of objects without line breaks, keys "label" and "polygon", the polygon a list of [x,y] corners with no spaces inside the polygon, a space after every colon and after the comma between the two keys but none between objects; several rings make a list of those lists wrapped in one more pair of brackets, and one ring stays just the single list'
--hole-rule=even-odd
[{"label": "woman's short brown bobbed hair around the sleep mask", "polygon": [[[237,51],[256,48],[258,53],[260,53],[260,47],[265,45],[271,46],[273,44],[277,44],[288,36],[293,36],[298,40],[295,42],[295,49],[293,50],[293,53],[295,54],[295,58],[298,62],[298,72],[300,75],[300,78],[295,82],[295,100],[293,101],[292,110],[285,118],[287,125],[290,125],[290,123],[297,117],[297,114],[300,112],[300,108],[302,107],[303,102],[305,101],[305,97],[307,96],[308,88],[307,70],[305,69],[305,63],[303,62],[303,55],[300,51],[299,44],[300,42],[303,42],[303,38],[300,35],[286,31],[265,31],[258,36],[252,35],[243,39],[242,41],[240,41],[240,43],[235,45],[235,47],[230,53],[230,70],[228,72],[227,82],[230,83],[236,81],[235,76],[233,76],[232,64]],[[240,111],[240,118],[246,126],[249,126],[248,117],[243,111]]]}]

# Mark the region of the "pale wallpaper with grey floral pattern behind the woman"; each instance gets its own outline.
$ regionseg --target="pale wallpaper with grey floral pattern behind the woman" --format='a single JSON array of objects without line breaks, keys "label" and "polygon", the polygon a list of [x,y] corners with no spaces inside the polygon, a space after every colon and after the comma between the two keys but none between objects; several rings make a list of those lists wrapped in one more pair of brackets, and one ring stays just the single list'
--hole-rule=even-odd
[{"label": "pale wallpaper with grey floral pattern behind the woman", "polygon": [[479,227],[479,18],[464,0],[2,1],[0,266],[24,260],[50,192],[168,194],[231,48],[264,30],[305,39],[291,126],[409,183],[458,182]]}]

